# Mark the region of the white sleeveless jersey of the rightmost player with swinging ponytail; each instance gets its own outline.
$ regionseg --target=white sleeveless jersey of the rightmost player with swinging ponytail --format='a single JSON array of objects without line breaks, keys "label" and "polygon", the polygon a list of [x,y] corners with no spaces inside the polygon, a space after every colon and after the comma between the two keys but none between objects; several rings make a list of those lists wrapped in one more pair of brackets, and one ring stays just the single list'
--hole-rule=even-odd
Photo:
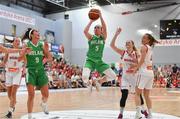
[{"label": "white sleeveless jersey of the rightmost player with swinging ponytail", "polygon": [[144,63],[141,65],[139,69],[139,73],[143,75],[153,76],[152,70],[152,48],[149,45],[145,45],[147,47],[146,57],[144,59]]}]

